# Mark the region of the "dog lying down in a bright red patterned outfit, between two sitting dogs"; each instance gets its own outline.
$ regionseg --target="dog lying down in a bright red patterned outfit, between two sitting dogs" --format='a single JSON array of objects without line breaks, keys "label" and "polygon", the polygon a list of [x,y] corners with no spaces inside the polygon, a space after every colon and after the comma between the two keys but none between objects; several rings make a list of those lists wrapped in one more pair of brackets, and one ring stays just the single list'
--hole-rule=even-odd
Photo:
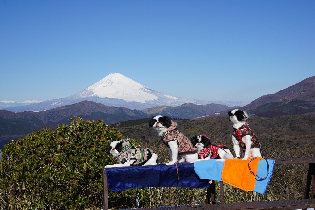
[{"label": "dog lying down in a bright red patterned outfit, between two sitting dogs", "polygon": [[197,148],[199,160],[217,159],[217,161],[223,162],[233,159],[233,155],[226,145],[213,145],[206,135],[195,135],[190,140]]}]

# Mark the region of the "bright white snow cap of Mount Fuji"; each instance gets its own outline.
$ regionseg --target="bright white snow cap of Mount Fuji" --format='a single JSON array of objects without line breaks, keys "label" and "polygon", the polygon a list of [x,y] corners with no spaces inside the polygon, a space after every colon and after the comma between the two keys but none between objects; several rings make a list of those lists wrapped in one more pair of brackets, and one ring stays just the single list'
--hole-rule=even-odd
[{"label": "bright white snow cap of Mount Fuji", "polygon": [[158,98],[152,90],[122,74],[109,74],[94,85],[77,93],[77,95],[82,97],[96,96],[99,98],[122,99],[127,102],[136,101],[140,103]]}]

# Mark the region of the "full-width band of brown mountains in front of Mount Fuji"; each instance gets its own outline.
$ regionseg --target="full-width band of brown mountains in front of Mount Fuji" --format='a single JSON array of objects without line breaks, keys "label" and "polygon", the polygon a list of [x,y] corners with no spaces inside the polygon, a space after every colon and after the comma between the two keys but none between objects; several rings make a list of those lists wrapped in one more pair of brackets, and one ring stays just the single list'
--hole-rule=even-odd
[{"label": "full-width band of brown mountains in front of Mount Fuji", "polygon": [[[91,90],[97,89],[100,88],[91,88]],[[119,91],[117,90],[116,92],[118,94]],[[99,93],[96,91],[95,94]],[[84,96],[83,93],[79,95]],[[131,110],[123,106],[106,106],[94,101],[84,100],[75,104],[38,112],[0,110],[0,148],[9,142],[9,140],[20,138],[34,130],[40,130],[46,126],[55,129],[59,124],[69,124],[69,119],[73,116],[81,117],[84,120],[102,120],[106,124],[156,115],[197,120],[213,116],[226,116],[229,110],[235,108],[247,111],[249,116],[256,115],[260,117],[296,114],[315,115],[315,76],[306,78],[275,94],[261,96],[250,104],[241,107],[220,104],[196,105],[193,103],[184,103],[179,106],[163,105],[142,110]]]}]

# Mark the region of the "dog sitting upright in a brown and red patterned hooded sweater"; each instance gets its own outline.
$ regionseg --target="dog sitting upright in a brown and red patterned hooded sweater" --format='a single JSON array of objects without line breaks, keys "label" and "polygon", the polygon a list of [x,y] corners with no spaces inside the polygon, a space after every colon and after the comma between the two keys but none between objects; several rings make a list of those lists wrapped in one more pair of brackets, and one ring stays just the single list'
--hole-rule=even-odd
[{"label": "dog sitting upright in a brown and red patterned hooded sweater", "polygon": [[177,162],[195,162],[198,160],[197,149],[191,141],[177,130],[177,123],[168,116],[152,116],[149,126],[157,131],[163,143],[169,148],[172,160],[166,165]]}]

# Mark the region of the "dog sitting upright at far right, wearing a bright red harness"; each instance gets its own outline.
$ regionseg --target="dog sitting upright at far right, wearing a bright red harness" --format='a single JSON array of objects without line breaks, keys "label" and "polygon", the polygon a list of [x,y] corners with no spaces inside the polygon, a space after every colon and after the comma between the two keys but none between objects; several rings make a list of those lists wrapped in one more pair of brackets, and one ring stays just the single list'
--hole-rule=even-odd
[{"label": "dog sitting upright at far right, wearing a bright red harness", "polygon": [[242,158],[247,160],[247,158],[260,157],[260,145],[256,135],[248,127],[248,115],[242,110],[232,110],[229,111],[229,120],[233,122],[233,149],[235,155],[238,157],[240,152],[240,147],[243,149]]}]

